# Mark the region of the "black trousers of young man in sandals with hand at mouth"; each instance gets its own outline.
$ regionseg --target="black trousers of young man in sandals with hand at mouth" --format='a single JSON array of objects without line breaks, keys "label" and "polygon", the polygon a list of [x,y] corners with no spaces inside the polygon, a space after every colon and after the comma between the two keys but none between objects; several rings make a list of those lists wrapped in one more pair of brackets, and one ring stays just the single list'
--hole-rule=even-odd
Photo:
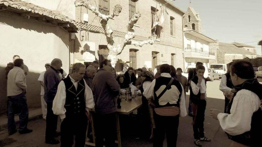
[{"label": "black trousers of young man in sandals with hand at mouth", "polygon": [[[205,120],[205,110],[206,110],[207,102],[206,100],[200,99],[197,102],[197,116],[195,123],[193,124],[194,138],[200,139],[205,137],[204,134],[204,120]],[[195,115],[195,114],[194,114]],[[194,117],[193,117],[194,119]]]}]

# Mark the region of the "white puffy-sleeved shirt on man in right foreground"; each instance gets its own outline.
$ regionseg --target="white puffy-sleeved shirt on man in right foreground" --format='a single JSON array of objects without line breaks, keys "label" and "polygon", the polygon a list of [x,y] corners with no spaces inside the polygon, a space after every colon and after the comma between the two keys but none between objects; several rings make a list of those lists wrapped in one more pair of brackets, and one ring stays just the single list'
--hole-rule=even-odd
[{"label": "white puffy-sleeved shirt on man in right foreground", "polygon": [[234,97],[231,114],[219,113],[217,118],[222,129],[230,135],[240,135],[251,129],[251,118],[260,106],[258,96],[249,90],[242,89]]}]

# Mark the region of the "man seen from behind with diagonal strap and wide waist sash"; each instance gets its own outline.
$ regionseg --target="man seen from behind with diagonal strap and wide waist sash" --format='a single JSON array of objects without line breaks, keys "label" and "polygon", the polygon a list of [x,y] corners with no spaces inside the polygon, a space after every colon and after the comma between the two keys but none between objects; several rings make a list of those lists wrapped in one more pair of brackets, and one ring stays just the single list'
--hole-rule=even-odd
[{"label": "man seen from behind with diagonal strap and wide waist sash", "polygon": [[[187,115],[185,108],[185,95],[183,86],[170,75],[168,64],[160,66],[160,77],[152,81],[143,95],[148,99],[149,105],[154,108],[154,144],[153,147],[162,147],[167,140],[167,146],[177,145],[177,129],[179,116]],[[152,117],[152,116],[151,116]]]}]

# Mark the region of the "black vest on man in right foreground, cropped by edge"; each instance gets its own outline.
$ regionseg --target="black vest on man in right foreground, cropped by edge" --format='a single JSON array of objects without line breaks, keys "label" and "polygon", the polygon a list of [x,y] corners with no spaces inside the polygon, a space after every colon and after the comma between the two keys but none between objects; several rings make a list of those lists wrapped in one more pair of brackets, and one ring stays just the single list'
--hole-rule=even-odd
[{"label": "black vest on man in right foreground, cropped by edge", "polygon": [[[258,95],[260,100],[262,99],[262,91],[261,91],[262,84],[260,84],[257,79],[247,80],[244,83],[242,83],[241,85],[235,86],[235,89],[237,92],[242,89],[252,91]],[[227,106],[228,114],[230,114],[230,109],[233,104],[233,100],[234,100],[234,97],[236,96],[236,93],[234,94],[233,98],[230,99],[230,102]],[[242,112],[242,113],[245,113],[245,112]],[[240,135],[236,135],[236,136],[232,136],[230,134],[227,134],[227,135],[229,139],[236,141],[238,143],[244,144],[246,146],[262,146],[261,134],[262,134],[262,110],[261,108],[258,108],[258,110],[253,113],[253,116],[251,118],[250,131],[245,132]]]}]

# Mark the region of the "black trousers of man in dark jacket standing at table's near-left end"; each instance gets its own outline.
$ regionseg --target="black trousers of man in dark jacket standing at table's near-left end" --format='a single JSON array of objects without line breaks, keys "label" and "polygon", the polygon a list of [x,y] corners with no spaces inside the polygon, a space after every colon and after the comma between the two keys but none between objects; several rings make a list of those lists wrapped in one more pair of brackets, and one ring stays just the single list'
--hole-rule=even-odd
[{"label": "black trousers of man in dark jacket standing at table's near-left end", "polygon": [[95,113],[96,147],[103,147],[104,138],[106,147],[114,147],[116,140],[116,113]]}]

